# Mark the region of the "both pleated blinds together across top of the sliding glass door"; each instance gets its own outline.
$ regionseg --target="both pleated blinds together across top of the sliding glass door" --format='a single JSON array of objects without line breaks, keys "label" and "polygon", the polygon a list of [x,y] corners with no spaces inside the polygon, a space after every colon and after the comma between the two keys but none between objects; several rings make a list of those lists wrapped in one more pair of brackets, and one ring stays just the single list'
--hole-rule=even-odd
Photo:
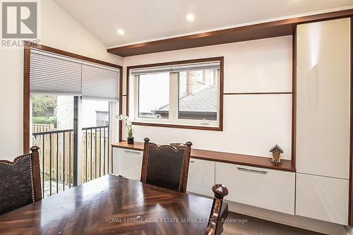
[{"label": "both pleated blinds together across top of the sliding glass door", "polygon": [[31,49],[30,92],[118,100],[119,69]]}]

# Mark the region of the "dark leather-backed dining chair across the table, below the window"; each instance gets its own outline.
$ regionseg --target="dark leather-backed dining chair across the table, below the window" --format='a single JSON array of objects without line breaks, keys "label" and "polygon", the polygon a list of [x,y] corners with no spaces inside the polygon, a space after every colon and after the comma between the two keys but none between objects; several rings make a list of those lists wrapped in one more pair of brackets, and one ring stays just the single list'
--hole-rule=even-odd
[{"label": "dark leather-backed dining chair across the table, below the window", "polygon": [[192,143],[158,146],[144,140],[141,182],[186,193]]}]

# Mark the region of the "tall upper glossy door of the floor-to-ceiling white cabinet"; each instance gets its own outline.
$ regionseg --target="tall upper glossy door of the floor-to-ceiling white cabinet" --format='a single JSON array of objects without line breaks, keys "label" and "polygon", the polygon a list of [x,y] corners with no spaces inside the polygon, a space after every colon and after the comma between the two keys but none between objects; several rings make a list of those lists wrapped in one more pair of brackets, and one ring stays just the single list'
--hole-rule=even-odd
[{"label": "tall upper glossy door of the floor-to-ceiling white cabinet", "polygon": [[297,172],[349,179],[350,18],[297,27]]}]

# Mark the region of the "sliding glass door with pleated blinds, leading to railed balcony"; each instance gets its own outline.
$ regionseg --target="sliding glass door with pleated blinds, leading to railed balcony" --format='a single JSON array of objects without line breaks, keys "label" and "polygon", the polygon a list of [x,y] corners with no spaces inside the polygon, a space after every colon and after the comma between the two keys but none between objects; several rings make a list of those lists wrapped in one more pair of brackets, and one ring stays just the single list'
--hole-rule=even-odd
[{"label": "sliding glass door with pleated blinds, leading to railed balcony", "polygon": [[120,69],[32,48],[29,66],[29,139],[40,147],[43,197],[109,174]]}]

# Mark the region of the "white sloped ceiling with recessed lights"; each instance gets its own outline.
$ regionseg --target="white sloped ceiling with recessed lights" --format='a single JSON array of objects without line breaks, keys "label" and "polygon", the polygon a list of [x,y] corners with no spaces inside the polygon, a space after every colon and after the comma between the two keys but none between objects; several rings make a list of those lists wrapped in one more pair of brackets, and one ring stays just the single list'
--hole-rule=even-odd
[{"label": "white sloped ceiling with recessed lights", "polygon": [[[108,47],[322,11],[353,0],[54,0]],[[186,20],[193,13],[195,20]],[[125,31],[119,35],[117,29]]]}]

